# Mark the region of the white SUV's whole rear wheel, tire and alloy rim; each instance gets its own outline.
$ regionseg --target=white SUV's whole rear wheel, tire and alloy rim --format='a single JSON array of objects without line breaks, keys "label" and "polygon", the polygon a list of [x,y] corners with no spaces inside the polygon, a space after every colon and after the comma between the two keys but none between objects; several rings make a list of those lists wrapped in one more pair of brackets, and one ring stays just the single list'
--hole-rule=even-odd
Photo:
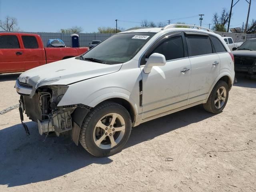
[{"label": "white SUV's whole rear wheel, tire and alloy rim", "polygon": [[228,101],[228,84],[219,81],[214,88],[205,104],[204,109],[208,112],[218,114],[222,112]]}]

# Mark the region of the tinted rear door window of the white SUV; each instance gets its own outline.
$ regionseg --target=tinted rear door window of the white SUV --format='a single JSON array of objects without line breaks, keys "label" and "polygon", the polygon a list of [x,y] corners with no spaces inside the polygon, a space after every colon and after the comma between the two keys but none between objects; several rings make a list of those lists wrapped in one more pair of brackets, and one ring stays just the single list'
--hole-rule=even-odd
[{"label": "tinted rear door window of the white SUV", "polygon": [[209,39],[209,36],[188,35],[186,36],[186,41],[188,43],[189,56],[213,53],[212,43]]}]

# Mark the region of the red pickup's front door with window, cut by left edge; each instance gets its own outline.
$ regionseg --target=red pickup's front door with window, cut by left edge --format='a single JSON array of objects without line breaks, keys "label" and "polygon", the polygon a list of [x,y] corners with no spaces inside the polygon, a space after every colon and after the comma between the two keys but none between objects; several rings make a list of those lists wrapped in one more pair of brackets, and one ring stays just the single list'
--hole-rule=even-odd
[{"label": "red pickup's front door with window, cut by left edge", "polygon": [[0,34],[0,73],[25,70],[24,54],[18,39],[13,34]]}]

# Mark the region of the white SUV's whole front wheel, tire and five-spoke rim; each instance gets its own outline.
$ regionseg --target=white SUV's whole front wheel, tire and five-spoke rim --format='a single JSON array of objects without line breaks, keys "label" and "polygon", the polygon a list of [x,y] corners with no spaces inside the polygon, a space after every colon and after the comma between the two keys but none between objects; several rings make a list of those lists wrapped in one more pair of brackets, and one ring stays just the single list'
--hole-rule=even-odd
[{"label": "white SUV's whole front wheel, tire and five-spoke rim", "polygon": [[115,102],[104,102],[84,118],[79,140],[90,154],[109,156],[122,150],[131,130],[128,111]]}]

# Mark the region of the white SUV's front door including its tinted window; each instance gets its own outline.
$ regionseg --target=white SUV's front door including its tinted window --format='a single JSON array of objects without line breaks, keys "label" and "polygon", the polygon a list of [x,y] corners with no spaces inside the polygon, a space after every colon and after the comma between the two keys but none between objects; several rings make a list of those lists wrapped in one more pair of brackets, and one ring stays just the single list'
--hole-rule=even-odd
[{"label": "white SUV's front door including its tinted window", "polygon": [[164,36],[146,53],[163,54],[165,66],[154,66],[149,74],[142,69],[143,118],[161,114],[185,106],[188,102],[190,84],[190,60],[184,51],[184,38],[180,32]]}]

